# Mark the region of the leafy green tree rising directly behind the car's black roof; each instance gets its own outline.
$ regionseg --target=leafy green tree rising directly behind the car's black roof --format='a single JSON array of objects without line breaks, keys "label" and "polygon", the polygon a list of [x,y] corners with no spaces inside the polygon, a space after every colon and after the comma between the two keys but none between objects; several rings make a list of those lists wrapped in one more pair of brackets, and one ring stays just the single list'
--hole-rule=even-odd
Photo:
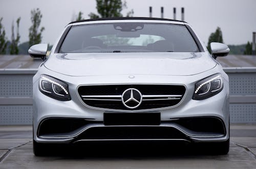
[{"label": "leafy green tree rising directly behind the car's black roof", "polygon": [[[98,15],[90,13],[90,18],[108,18],[108,17],[122,17],[121,11],[125,8],[126,2],[121,0],[96,0]],[[127,13],[126,17],[133,15],[133,10]]]}]

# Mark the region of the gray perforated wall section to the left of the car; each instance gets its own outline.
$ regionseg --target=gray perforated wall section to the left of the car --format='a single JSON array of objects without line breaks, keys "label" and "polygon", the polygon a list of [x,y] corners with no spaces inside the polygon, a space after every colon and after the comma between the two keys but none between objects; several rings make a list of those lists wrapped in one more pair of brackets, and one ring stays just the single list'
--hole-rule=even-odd
[{"label": "gray perforated wall section to the left of the car", "polygon": [[32,79],[37,69],[0,69],[0,125],[32,124]]}]

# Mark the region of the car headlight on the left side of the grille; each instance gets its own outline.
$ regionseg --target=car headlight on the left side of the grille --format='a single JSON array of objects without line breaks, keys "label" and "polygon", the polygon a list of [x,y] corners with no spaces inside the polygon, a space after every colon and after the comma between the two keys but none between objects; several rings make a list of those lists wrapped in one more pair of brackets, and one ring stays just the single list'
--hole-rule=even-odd
[{"label": "car headlight on the left side of the grille", "polygon": [[71,100],[68,84],[45,74],[42,74],[39,80],[39,90],[57,100]]}]

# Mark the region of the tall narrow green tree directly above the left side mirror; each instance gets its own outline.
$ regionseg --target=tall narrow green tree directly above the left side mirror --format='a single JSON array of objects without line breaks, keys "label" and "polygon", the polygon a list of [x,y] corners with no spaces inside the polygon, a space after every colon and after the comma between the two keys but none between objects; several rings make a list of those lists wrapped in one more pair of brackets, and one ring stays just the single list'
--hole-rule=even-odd
[{"label": "tall narrow green tree directly above the left side mirror", "polygon": [[38,8],[31,10],[30,18],[32,21],[32,25],[29,28],[29,46],[32,46],[34,44],[41,43],[41,34],[42,31],[45,30],[45,27],[41,27],[41,29],[39,30],[42,14]]}]

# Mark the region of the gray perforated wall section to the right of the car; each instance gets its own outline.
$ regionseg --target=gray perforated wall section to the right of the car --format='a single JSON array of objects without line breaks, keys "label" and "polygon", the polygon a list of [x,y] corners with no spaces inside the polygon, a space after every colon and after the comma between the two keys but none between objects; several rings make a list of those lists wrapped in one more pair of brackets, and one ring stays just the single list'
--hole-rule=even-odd
[{"label": "gray perforated wall section to the right of the car", "polygon": [[225,68],[229,76],[230,122],[256,123],[256,68]]}]

